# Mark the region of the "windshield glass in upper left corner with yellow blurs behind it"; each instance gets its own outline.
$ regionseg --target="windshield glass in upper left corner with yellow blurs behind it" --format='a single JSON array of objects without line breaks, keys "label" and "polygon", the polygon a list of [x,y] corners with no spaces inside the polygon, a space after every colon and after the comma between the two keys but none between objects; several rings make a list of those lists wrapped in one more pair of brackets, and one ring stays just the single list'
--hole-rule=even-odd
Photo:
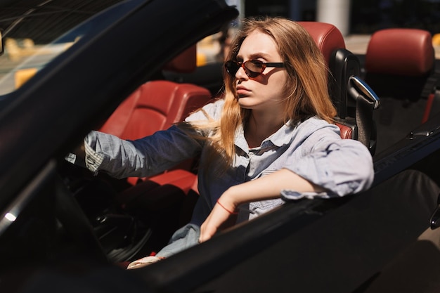
[{"label": "windshield glass in upper left corner with yellow blurs behind it", "polygon": [[78,26],[80,23],[120,1],[0,1],[4,45],[0,56],[0,95],[18,89],[86,32],[96,29],[96,23]]}]

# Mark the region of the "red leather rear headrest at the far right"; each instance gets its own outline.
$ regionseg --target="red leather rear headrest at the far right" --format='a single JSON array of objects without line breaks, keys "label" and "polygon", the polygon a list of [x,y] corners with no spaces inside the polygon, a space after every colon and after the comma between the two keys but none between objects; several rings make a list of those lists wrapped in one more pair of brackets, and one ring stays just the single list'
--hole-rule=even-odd
[{"label": "red leather rear headrest at the far right", "polygon": [[368,43],[365,81],[380,98],[415,101],[432,93],[434,84],[428,85],[427,81],[434,64],[429,32],[408,28],[379,30]]}]

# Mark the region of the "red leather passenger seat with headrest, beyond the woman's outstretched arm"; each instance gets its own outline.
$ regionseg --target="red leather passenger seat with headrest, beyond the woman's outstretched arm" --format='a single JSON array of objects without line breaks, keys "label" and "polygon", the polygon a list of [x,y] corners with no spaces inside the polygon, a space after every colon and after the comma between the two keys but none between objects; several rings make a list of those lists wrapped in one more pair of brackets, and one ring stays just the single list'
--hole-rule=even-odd
[{"label": "red leather passenger seat with headrest, beyond the woman's outstretched arm", "polygon": [[[196,47],[192,46],[164,66],[165,70],[191,72],[196,67]],[[167,80],[154,80],[141,85],[122,102],[101,126],[100,131],[119,138],[134,140],[164,130],[176,122],[182,122],[190,112],[211,100],[211,93],[194,84],[179,84]],[[152,180],[161,183],[173,182],[186,192],[196,184],[193,173],[188,171],[193,161],[179,164],[178,171],[158,175]],[[175,180],[175,178],[180,178]],[[186,180],[183,180],[186,178]],[[145,178],[128,178],[131,185],[136,185]]]}]

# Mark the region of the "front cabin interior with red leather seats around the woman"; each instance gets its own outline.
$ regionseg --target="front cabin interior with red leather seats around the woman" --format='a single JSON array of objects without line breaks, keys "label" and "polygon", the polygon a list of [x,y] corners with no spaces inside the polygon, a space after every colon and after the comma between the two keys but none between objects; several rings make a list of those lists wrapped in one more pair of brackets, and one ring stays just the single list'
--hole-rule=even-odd
[{"label": "front cabin interior with red leather seats around the woman", "polygon": [[[300,23],[312,35],[329,65],[331,98],[337,105],[335,119],[341,137],[360,140],[374,154],[373,110],[378,100],[373,91],[361,89],[352,80],[361,74],[358,58],[345,48],[342,34],[335,26]],[[167,71],[195,70],[194,57],[195,47],[169,63]],[[190,111],[212,99],[212,94],[202,86],[158,77],[131,93],[99,130],[124,139],[141,138],[182,121]],[[145,115],[149,119],[144,119]],[[197,159],[157,176],[127,181],[117,181],[105,174],[86,176],[87,187],[80,190],[75,190],[75,186],[84,186],[84,178],[81,183],[72,179],[70,186],[92,219],[93,230],[110,260],[126,266],[128,261],[154,254],[167,244],[177,228],[190,221],[198,199],[196,164]]]}]

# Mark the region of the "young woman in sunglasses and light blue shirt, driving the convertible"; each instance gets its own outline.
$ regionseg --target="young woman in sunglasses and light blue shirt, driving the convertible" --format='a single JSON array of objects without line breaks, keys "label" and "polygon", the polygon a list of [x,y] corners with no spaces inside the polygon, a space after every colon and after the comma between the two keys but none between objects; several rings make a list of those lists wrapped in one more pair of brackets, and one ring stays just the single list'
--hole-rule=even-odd
[{"label": "young woman in sunglasses and light blue shirt, driving the convertible", "polygon": [[364,145],[332,124],[321,51],[301,25],[245,20],[224,67],[224,98],[186,122],[136,141],[97,131],[85,138],[86,165],[117,178],[151,176],[200,154],[193,219],[143,266],[209,240],[232,214],[252,219],[285,198],[358,193],[373,181]]}]

